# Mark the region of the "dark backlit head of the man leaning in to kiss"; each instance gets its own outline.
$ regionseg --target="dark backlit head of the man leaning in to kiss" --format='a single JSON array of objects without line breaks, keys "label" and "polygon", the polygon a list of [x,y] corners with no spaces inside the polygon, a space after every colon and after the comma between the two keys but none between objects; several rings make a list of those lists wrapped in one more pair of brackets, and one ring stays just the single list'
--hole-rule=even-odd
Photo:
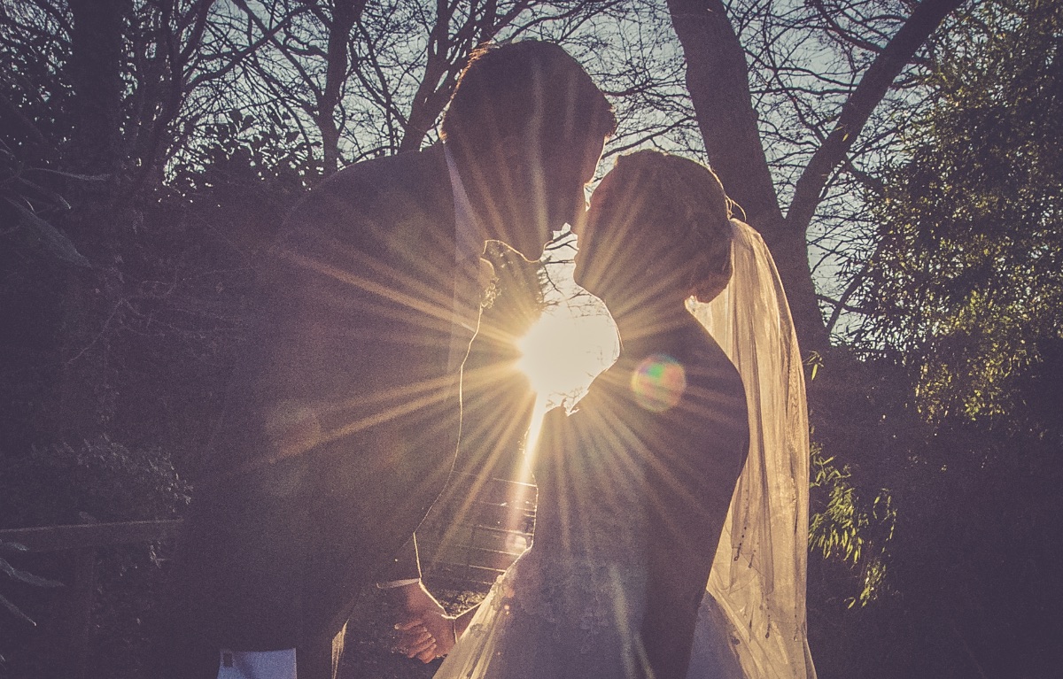
[{"label": "dark backlit head of the man leaning in to kiss", "polygon": [[580,222],[612,108],[579,64],[536,40],[470,57],[443,118],[487,239],[538,259],[552,231]]}]

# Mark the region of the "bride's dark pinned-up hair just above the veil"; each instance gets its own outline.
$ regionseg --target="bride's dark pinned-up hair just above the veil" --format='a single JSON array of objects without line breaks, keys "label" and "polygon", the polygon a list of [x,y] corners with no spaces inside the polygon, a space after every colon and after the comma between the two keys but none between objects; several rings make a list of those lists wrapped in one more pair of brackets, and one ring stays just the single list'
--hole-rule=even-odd
[{"label": "bride's dark pinned-up hair just above the veil", "polygon": [[[684,285],[698,302],[710,302],[731,277],[731,202],[709,168],[659,151],[617,158],[618,180],[639,194],[629,223],[664,236],[689,262]],[[625,189],[621,189],[627,193]]]}]

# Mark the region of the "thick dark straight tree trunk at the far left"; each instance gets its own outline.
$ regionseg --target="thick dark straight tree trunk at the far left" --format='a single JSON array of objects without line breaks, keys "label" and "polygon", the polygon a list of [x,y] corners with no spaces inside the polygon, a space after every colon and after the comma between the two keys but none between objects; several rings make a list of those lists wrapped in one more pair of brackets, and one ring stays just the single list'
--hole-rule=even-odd
[{"label": "thick dark straight tree trunk at the far left", "polygon": [[[132,0],[70,0],[73,16],[67,63],[73,83],[69,167],[95,181],[72,180],[72,206],[64,224],[91,269],[66,276],[61,307],[58,408],[55,434],[77,442],[102,434],[114,394],[107,379],[108,334],[121,299],[116,269],[123,219],[122,63]],[[124,201],[123,201],[124,202]]]}]

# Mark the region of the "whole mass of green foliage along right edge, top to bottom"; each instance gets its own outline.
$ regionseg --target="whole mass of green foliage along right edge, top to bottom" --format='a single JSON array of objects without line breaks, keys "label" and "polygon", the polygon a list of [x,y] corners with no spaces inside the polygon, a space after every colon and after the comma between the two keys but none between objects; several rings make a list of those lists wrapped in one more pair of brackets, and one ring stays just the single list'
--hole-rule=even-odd
[{"label": "whole mass of green foliage along right edge, top to bottom", "polygon": [[[1063,605],[1049,575],[1063,459],[1063,5],[977,3],[937,39],[930,96],[867,197],[878,242],[855,349],[884,355],[863,361],[884,381],[827,371],[839,384],[816,418],[830,426],[824,449],[846,463],[813,460],[812,547],[864,558],[875,534],[861,521],[874,531],[888,516],[891,596],[838,624],[836,564],[810,562],[810,619],[834,625],[816,640],[830,649],[817,668],[1050,676]],[[877,403],[858,409],[861,391]],[[876,507],[878,488],[890,499]],[[867,542],[849,550],[855,536]]]}]

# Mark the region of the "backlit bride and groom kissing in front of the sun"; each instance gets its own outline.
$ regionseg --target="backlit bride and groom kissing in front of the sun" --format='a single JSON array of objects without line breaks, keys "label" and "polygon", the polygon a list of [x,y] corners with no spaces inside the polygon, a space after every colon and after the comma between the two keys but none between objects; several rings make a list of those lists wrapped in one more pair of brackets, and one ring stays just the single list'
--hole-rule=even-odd
[{"label": "backlit bride and groom kissing in front of the sun", "polygon": [[[692,677],[814,676],[804,551],[789,563],[770,549],[779,531],[804,549],[807,502],[799,357],[795,376],[774,267],[691,160],[620,158],[588,213],[614,128],[557,46],[489,46],[441,143],[349,167],[293,209],[186,519],[161,670],[333,676],[356,597],[376,583],[408,656],[449,655],[439,676],[681,679],[692,648]],[[608,306],[621,355],[573,414],[547,415],[535,544],[452,618],[421,583],[412,534],[457,451],[461,364],[490,278],[480,255],[495,239],[537,259],[566,224],[576,281]],[[719,330],[713,313],[728,317]],[[740,374],[736,352],[763,374]],[[787,402],[779,431],[764,432],[764,391]],[[765,564],[797,574],[794,600]],[[781,650],[760,648],[765,632],[788,638],[769,644]]]}]

